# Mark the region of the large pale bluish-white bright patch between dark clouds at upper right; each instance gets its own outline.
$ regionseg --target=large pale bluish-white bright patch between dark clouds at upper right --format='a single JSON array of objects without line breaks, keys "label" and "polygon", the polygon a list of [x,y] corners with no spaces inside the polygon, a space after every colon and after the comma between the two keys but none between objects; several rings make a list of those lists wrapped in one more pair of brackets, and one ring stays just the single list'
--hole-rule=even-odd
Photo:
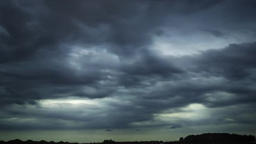
[{"label": "large pale bluish-white bright patch between dark clouds at upper right", "polygon": [[[168,32],[166,32],[168,33]],[[253,42],[247,34],[233,34],[234,37],[215,37],[209,32],[183,32],[170,30],[173,35],[155,36],[151,49],[161,55],[184,56],[199,54],[204,50],[223,49],[231,43]],[[177,37],[177,35],[179,37]]]}]

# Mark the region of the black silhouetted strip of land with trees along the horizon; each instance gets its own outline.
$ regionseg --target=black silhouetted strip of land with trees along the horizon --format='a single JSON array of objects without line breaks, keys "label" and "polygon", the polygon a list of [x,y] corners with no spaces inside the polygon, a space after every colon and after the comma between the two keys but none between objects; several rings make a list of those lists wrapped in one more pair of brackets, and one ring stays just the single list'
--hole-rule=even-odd
[{"label": "black silhouetted strip of land with trees along the horizon", "polygon": [[[0,141],[0,144],[81,144],[69,142],[54,142],[54,141],[22,141],[19,139],[10,141]],[[102,143],[82,143],[82,144],[256,144],[254,135],[238,135],[228,133],[205,133],[200,135],[188,135],[179,141],[124,141],[116,142],[113,140],[104,140]]]}]

